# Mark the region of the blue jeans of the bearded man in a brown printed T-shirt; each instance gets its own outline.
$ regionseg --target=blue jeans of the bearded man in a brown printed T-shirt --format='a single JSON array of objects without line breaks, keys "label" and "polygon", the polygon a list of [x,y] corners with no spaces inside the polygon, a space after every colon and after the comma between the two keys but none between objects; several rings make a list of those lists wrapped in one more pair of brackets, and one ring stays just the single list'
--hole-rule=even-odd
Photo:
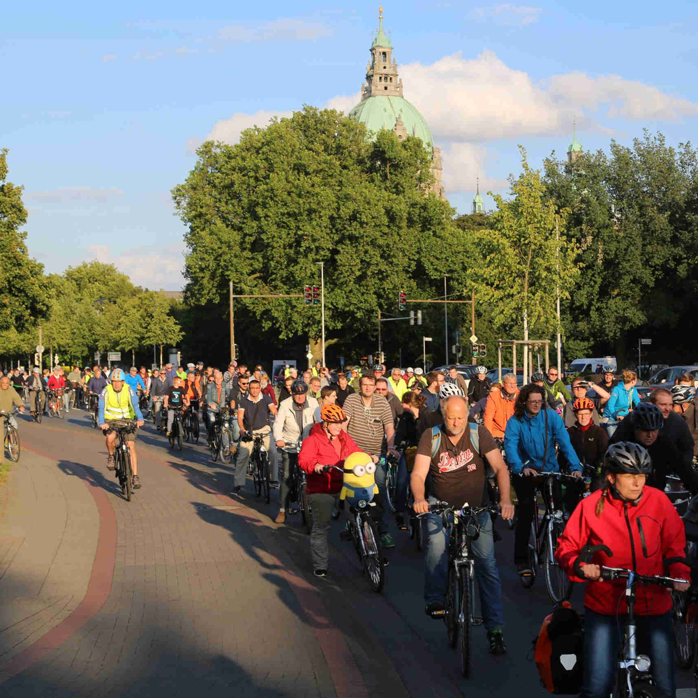
[{"label": "blue jeans of the bearded man in a brown printed T-shirt", "polygon": [[[433,500],[430,503],[434,503]],[[470,552],[475,558],[475,579],[480,591],[482,617],[487,630],[504,625],[502,585],[499,581],[497,560],[494,558],[492,519],[489,512],[480,517],[480,537],[470,542]],[[448,590],[448,541],[450,530],[443,527],[441,514],[426,514],[422,518],[424,532],[424,601],[430,604],[443,602]]]}]

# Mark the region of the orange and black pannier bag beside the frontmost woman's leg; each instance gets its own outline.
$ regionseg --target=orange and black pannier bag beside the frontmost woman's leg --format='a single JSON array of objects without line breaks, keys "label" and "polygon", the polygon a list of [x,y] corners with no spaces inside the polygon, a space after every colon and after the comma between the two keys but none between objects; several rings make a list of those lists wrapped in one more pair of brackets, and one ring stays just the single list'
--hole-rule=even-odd
[{"label": "orange and black pannier bag beside the frontmost woman's leg", "polygon": [[584,674],[584,629],[569,601],[563,601],[545,618],[533,642],[544,688],[556,694],[579,693]]}]

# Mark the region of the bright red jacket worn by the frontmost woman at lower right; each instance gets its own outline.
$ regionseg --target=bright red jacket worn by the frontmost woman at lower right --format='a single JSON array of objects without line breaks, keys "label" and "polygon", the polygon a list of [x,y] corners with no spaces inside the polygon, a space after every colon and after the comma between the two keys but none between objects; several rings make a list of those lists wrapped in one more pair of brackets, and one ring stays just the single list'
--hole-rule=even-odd
[{"label": "bright red jacket worn by the frontmost woman at lower right", "polygon": [[[615,499],[607,492],[604,510],[597,517],[595,508],[601,496],[602,490],[597,490],[582,500],[558,539],[555,557],[570,579],[584,581],[574,574],[573,565],[581,549],[588,543],[604,544],[613,551],[611,558],[605,553],[596,553],[593,556],[596,565],[627,567],[638,574],[668,574],[669,577],[690,580],[690,567],[684,563],[672,562],[668,565],[668,572],[664,569],[664,560],[685,559],[686,545],[683,521],[664,492],[645,486],[637,506]],[[638,585],[636,589],[637,614],[658,616],[671,609],[669,589],[655,584]],[[584,605],[607,616],[616,614],[616,611],[623,614],[628,612],[624,595],[624,579],[614,582],[588,581]],[[618,600],[621,600],[620,607]]]}]

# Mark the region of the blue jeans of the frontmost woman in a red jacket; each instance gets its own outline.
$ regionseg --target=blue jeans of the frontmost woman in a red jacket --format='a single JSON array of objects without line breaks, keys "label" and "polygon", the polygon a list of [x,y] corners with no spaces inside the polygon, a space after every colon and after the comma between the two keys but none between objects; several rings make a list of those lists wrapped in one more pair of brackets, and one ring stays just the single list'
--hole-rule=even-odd
[{"label": "blue jeans of the frontmost woman in a red jacket", "polygon": [[[580,698],[605,698],[613,690],[618,661],[618,623],[623,616],[606,616],[584,609],[584,681]],[[636,616],[637,653],[652,660],[651,674],[664,698],[674,698],[674,643],[671,611],[662,616]]]}]

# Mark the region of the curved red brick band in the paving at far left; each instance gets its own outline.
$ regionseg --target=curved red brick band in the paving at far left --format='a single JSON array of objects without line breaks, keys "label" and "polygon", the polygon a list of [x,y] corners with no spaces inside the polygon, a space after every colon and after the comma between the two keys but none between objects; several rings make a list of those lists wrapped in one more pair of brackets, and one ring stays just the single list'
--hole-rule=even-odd
[{"label": "curved red brick band in the paving at far left", "polygon": [[[22,443],[22,448],[55,463],[59,462],[54,456],[33,446],[27,446],[26,443]],[[76,465],[80,465],[80,463],[76,463]],[[82,479],[92,495],[99,516],[97,549],[92,562],[87,592],[69,616],[66,616],[58,625],[43,634],[34,644],[29,645],[8,662],[0,665],[0,683],[7,681],[15,674],[19,674],[20,671],[24,671],[31,664],[38,662],[45,655],[64,644],[103,607],[112,592],[114,560],[117,553],[117,517],[107,493],[87,475],[86,471],[83,472],[83,475],[76,474]]]}]

